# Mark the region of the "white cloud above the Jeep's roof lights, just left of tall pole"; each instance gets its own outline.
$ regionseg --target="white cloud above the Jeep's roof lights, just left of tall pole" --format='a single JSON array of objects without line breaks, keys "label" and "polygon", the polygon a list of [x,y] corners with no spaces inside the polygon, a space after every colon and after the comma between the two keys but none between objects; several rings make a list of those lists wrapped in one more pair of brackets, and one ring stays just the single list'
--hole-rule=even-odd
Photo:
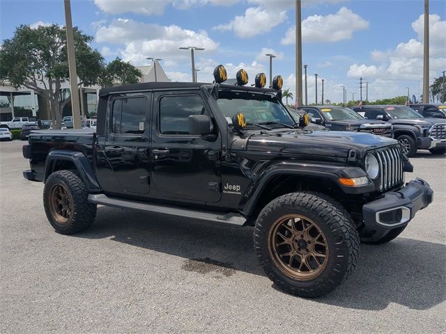
[{"label": "white cloud above the Jeep's roof lights, just left of tall pole", "polygon": [[267,33],[286,18],[286,10],[277,12],[262,7],[249,7],[245,15],[237,15],[226,24],[219,24],[215,30],[233,31],[240,38],[248,38]]}]

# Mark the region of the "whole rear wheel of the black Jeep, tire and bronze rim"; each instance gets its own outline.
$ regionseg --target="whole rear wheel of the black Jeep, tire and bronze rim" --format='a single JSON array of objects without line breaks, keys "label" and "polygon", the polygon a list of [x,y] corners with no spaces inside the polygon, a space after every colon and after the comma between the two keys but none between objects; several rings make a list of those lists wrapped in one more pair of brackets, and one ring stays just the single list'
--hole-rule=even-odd
[{"label": "whole rear wheel of the black Jeep, tire and bronze rim", "polygon": [[71,170],[49,175],[43,190],[43,206],[56,232],[72,234],[90,227],[95,220],[96,205],[88,201],[84,182]]}]

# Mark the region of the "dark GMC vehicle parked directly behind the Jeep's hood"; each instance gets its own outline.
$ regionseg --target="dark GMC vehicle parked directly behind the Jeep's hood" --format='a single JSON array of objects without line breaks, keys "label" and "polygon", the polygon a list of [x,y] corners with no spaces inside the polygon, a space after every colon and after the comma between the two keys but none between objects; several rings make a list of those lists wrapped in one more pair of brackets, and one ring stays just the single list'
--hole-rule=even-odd
[{"label": "dark GMC vehicle parked directly behind the Jeep's hood", "polygon": [[332,131],[364,132],[392,137],[392,125],[383,120],[366,120],[355,111],[343,106],[302,106],[310,122],[323,125]]}]

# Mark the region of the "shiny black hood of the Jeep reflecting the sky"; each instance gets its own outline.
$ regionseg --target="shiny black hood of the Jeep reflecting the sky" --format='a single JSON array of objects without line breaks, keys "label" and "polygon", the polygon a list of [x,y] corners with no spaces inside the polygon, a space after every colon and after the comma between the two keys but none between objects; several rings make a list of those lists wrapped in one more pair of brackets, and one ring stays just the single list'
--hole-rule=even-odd
[{"label": "shiny black hood of the Jeep reflecting the sky", "polygon": [[247,150],[279,152],[282,154],[308,154],[325,157],[344,157],[352,149],[369,150],[397,144],[392,138],[361,134],[359,132],[301,132],[288,130],[253,134],[249,136]]}]

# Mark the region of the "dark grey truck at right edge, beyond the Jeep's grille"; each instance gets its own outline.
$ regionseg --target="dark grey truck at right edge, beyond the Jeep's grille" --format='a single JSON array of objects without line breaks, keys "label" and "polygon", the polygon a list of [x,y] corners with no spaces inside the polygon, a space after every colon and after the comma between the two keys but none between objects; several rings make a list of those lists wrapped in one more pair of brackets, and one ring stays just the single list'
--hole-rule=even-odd
[{"label": "dark grey truck at right edge, beyond the Jeep's grille", "polygon": [[369,120],[390,122],[394,138],[408,157],[413,157],[417,149],[432,154],[446,152],[446,120],[424,118],[408,106],[353,106],[352,109]]}]

